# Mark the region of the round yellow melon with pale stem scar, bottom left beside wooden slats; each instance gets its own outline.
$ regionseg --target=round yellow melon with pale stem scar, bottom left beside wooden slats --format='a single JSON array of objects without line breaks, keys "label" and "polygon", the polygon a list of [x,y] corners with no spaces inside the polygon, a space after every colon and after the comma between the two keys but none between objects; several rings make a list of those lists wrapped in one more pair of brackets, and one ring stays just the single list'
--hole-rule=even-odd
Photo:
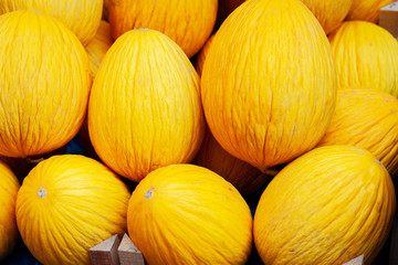
[{"label": "round yellow melon with pale stem scar, bottom left beside wooden slats", "polygon": [[53,156],[23,180],[18,229],[43,264],[90,264],[90,247],[127,230],[129,197],[104,165],[78,155]]}]

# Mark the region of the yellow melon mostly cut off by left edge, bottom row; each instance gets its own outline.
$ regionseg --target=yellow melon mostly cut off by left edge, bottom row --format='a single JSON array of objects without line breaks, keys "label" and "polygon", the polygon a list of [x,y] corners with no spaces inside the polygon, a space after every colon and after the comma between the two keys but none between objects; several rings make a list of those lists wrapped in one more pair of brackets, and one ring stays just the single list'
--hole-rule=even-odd
[{"label": "yellow melon mostly cut off by left edge, bottom row", "polygon": [[20,183],[11,169],[0,161],[0,261],[15,247],[19,239],[15,201]]}]

